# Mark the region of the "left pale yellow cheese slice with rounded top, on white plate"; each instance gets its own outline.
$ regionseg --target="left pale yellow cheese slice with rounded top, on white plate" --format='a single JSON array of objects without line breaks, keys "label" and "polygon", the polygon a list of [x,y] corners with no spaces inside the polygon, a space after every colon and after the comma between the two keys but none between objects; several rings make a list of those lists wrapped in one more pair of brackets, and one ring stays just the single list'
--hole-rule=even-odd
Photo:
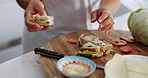
[{"label": "left pale yellow cheese slice with rounded top, on white plate", "polygon": [[105,78],[128,78],[124,57],[116,54],[108,65]]}]

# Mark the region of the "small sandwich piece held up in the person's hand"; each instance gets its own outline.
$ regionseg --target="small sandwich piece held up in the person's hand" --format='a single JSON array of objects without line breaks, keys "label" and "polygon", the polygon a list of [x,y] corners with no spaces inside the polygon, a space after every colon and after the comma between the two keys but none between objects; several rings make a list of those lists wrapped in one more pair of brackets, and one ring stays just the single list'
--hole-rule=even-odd
[{"label": "small sandwich piece held up in the person's hand", "polygon": [[34,21],[42,26],[53,26],[54,25],[53,16],[35,16]]}]

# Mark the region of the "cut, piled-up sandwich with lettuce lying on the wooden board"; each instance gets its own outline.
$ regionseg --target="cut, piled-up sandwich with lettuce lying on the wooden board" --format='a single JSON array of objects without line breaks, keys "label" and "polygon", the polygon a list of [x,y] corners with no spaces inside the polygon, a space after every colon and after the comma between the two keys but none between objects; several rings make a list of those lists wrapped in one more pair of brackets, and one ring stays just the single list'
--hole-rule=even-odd
[{"label": "cut, piled-up sandwich with lettuce lying on the wooden board", "polygon": [[113,48],[113,45],[105,40],[100,40],[95,35],[81,34],[78,38],[79,50],[77,52],[80,56],[96,58],[109,54]]}]

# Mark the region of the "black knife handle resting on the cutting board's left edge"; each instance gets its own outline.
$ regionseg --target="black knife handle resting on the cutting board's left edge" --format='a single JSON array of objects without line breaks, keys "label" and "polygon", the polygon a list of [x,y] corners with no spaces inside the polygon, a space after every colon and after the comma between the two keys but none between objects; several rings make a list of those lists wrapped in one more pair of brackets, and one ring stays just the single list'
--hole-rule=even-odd
[{"label": "black knife handle resting on the cutting board's left edge", "polygon": [[65,55],[59,52],[54,52],[46,49],[41,49],[41,48],[35,48],[34,49],[35,54],[41,54],[44,53],[46,55],[51,55],[51,56],[57,56],[57,57],[64,57]]}]

